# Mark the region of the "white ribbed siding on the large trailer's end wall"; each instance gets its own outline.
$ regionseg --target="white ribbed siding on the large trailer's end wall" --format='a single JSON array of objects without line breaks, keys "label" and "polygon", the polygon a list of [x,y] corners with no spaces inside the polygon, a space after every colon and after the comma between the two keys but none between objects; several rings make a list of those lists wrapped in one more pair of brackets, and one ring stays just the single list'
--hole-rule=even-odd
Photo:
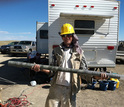
[{"label": "white ribbed siding on the large trailer's end wall", "polygon": [[[54,7],[51,4],[55,4]],[[79,7],[75,7],[79,5]],[[87,7],[84,8],[83,6]],[[94,8],[91,8],[94,6]],[[118,23],[119,23],[119,4],[116,0],[49,0],[49,53],[52,53],[52,46],[60,44],[62,42],[58,32],[60,32],[61,26],[64,23],[70,23],[74,26],[75,20],[94,20],[95,21],[95,33],[93,35],[78,35],[79,44],[89,47],[106,48],[108,45],[114,45],[116,47],[118,40]],[[114,7],[118,7],[114,9]],[[100,15],[113,15],[110,19],[102,19],[95,17],[60,17],[60,13],[82,13],[82,14],[100,14]],[[110,51],[105,51],[108,53]],[[115,55],[115,50],[113,55]],[[107,54],[98,51],[96,61],[100,60],[99,54],[102,54],[104,58],[109,58]],[[112,53],[111,53],[112,54]],[[51,57],[51,55],[50,55]],[[112,56],[111,60],[115,60]]]}]

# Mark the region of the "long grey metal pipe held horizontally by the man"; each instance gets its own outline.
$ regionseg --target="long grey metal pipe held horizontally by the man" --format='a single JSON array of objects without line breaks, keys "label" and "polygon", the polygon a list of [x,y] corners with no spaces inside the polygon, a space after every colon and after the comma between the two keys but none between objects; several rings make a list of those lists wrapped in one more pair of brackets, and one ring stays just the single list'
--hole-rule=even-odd
[{"label": "long grey metal pipe held horizontally by the man", "polygon": [[[34,66],[34,63],[25,63],[25,62],[19,62],[19,61],[8,61],[8,65],[15,66],[15,67],[24,67],[31,69],[32,66]],[[91,76],[101,76],[101,73],[104,72],[96,72],[96,71],[90,71],[90,70],[82,70],[82,69],[72,69],[72,68],[62,68],[58,66],[49,66],[49,65],[40,65],[40,69],[47,69],[52,71],[62,71],[62,72],[70,72],[70,73],[79,73],[79,74],[86,74]],[[112,73],[106,73],[107,76],[110,78],[117,78],[124,80],[124,75],[119,74],[112,74]]]}]

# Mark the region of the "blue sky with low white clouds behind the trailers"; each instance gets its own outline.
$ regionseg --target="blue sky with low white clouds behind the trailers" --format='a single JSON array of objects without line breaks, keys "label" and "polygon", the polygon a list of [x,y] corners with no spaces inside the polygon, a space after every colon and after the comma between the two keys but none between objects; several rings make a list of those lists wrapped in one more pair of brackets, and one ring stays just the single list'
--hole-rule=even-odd
[{"label": "blue sky with low white clouds behind the trailers", "polygon": [[[124,40],[124,0],[120,1],[119,40]],[[48,0],[0,0],[0,41],[35,40],[36,21],[48,21]]]}]

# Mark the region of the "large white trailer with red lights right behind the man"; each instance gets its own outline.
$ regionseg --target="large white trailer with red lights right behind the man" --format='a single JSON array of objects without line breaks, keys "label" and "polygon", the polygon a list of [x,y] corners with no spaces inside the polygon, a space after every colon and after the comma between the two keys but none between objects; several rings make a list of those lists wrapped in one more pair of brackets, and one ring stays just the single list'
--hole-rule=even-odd
[{"label": "large white trailer with red lights right behind the man", "polygon": [[64,23],[74,26],[89,67],[115,67],[120,2],[117,0],[48,0],[48,50],[62,40]]}]

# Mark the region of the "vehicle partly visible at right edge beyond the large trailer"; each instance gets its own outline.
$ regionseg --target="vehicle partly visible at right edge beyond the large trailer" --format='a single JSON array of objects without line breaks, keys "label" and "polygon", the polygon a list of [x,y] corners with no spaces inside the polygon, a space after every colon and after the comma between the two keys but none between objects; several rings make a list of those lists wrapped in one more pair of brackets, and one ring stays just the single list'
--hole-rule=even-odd
[{"label": "vehicle partly visible at right edge beyond the large trailer", "polygon": [[118,50],[116,53],[116,60],[124,62],[124,41],[119,41]]}]

